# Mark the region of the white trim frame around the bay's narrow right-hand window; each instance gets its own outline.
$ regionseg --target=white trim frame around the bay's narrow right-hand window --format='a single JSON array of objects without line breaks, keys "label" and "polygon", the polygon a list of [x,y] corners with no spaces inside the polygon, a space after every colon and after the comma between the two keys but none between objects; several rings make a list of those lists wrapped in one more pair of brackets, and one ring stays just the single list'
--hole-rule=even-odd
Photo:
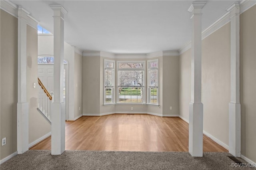
[{"label": "white trim frame around the bay's narrow right-hand window", "polygon": [[[150,63],[151,62],[154,62],[154,61],[156,61],[157,62],[157,67],[150,67]],[[148,65],[148,67],[147,67],[147,104],[148,105],[159,105],[159,69],[158,69],[158,66],[159,66],[159,62],[158,62],[158,59],[152,59],[152,60],[148,60],[147,61],[147,65]],[[157,88],[156,88],[156,91],[157,91],[157,99],[156,99],[156,101],[157,101],[157,103],[150,103],[151,102],[151,99],[150,99],[150,96],[151,96],[151,91],[150,91],[150,88],[151,88],[151,86],[150,86],[150,84],[148,83],[148,80],[149,80],[149,76],[150,76],[150,74],[148,73],[149,72],[149,70],[157,70]]]}]

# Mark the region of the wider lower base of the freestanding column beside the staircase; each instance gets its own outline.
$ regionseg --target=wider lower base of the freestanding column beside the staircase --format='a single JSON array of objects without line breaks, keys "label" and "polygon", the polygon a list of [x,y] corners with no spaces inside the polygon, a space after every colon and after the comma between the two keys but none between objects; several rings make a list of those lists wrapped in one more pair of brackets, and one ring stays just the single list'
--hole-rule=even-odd
[{"label": "wider lower base of the freestanding column beside the staircase", "polygon": [[52,103],[52,155],[65,151],[65,102]]}]

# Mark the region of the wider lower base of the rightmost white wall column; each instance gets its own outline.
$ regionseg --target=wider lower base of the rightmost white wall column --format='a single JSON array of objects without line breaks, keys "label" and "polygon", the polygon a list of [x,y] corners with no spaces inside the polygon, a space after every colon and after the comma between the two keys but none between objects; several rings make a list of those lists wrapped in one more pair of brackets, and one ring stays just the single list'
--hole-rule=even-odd
[{"label": "wider lower base of the rightmost white wall column", "polygon": [[241,105],[229,103],[229,153],[240,157],[241,152]]}]

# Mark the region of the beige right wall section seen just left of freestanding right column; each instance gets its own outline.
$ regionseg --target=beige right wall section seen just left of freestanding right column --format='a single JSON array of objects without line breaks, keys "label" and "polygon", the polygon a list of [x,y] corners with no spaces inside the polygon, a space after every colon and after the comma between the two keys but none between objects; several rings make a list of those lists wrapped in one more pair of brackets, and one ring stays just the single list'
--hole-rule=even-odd
[{"label": "beige right wall section seen just left of freestanding right column", "polygon": [[180,117],[188,121],[191,89],[191,48],[180,55]]}]

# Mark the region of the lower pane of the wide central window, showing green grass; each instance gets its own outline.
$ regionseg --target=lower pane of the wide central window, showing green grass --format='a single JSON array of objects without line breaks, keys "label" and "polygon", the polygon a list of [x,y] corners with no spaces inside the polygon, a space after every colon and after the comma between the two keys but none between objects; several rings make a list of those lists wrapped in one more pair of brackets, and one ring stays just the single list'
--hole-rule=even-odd
[{"label": "lower pane of the wide central window, showing green grass", "polygon": [[119,87],[119,103],[143,103],[144,88],[123,88]]}]

